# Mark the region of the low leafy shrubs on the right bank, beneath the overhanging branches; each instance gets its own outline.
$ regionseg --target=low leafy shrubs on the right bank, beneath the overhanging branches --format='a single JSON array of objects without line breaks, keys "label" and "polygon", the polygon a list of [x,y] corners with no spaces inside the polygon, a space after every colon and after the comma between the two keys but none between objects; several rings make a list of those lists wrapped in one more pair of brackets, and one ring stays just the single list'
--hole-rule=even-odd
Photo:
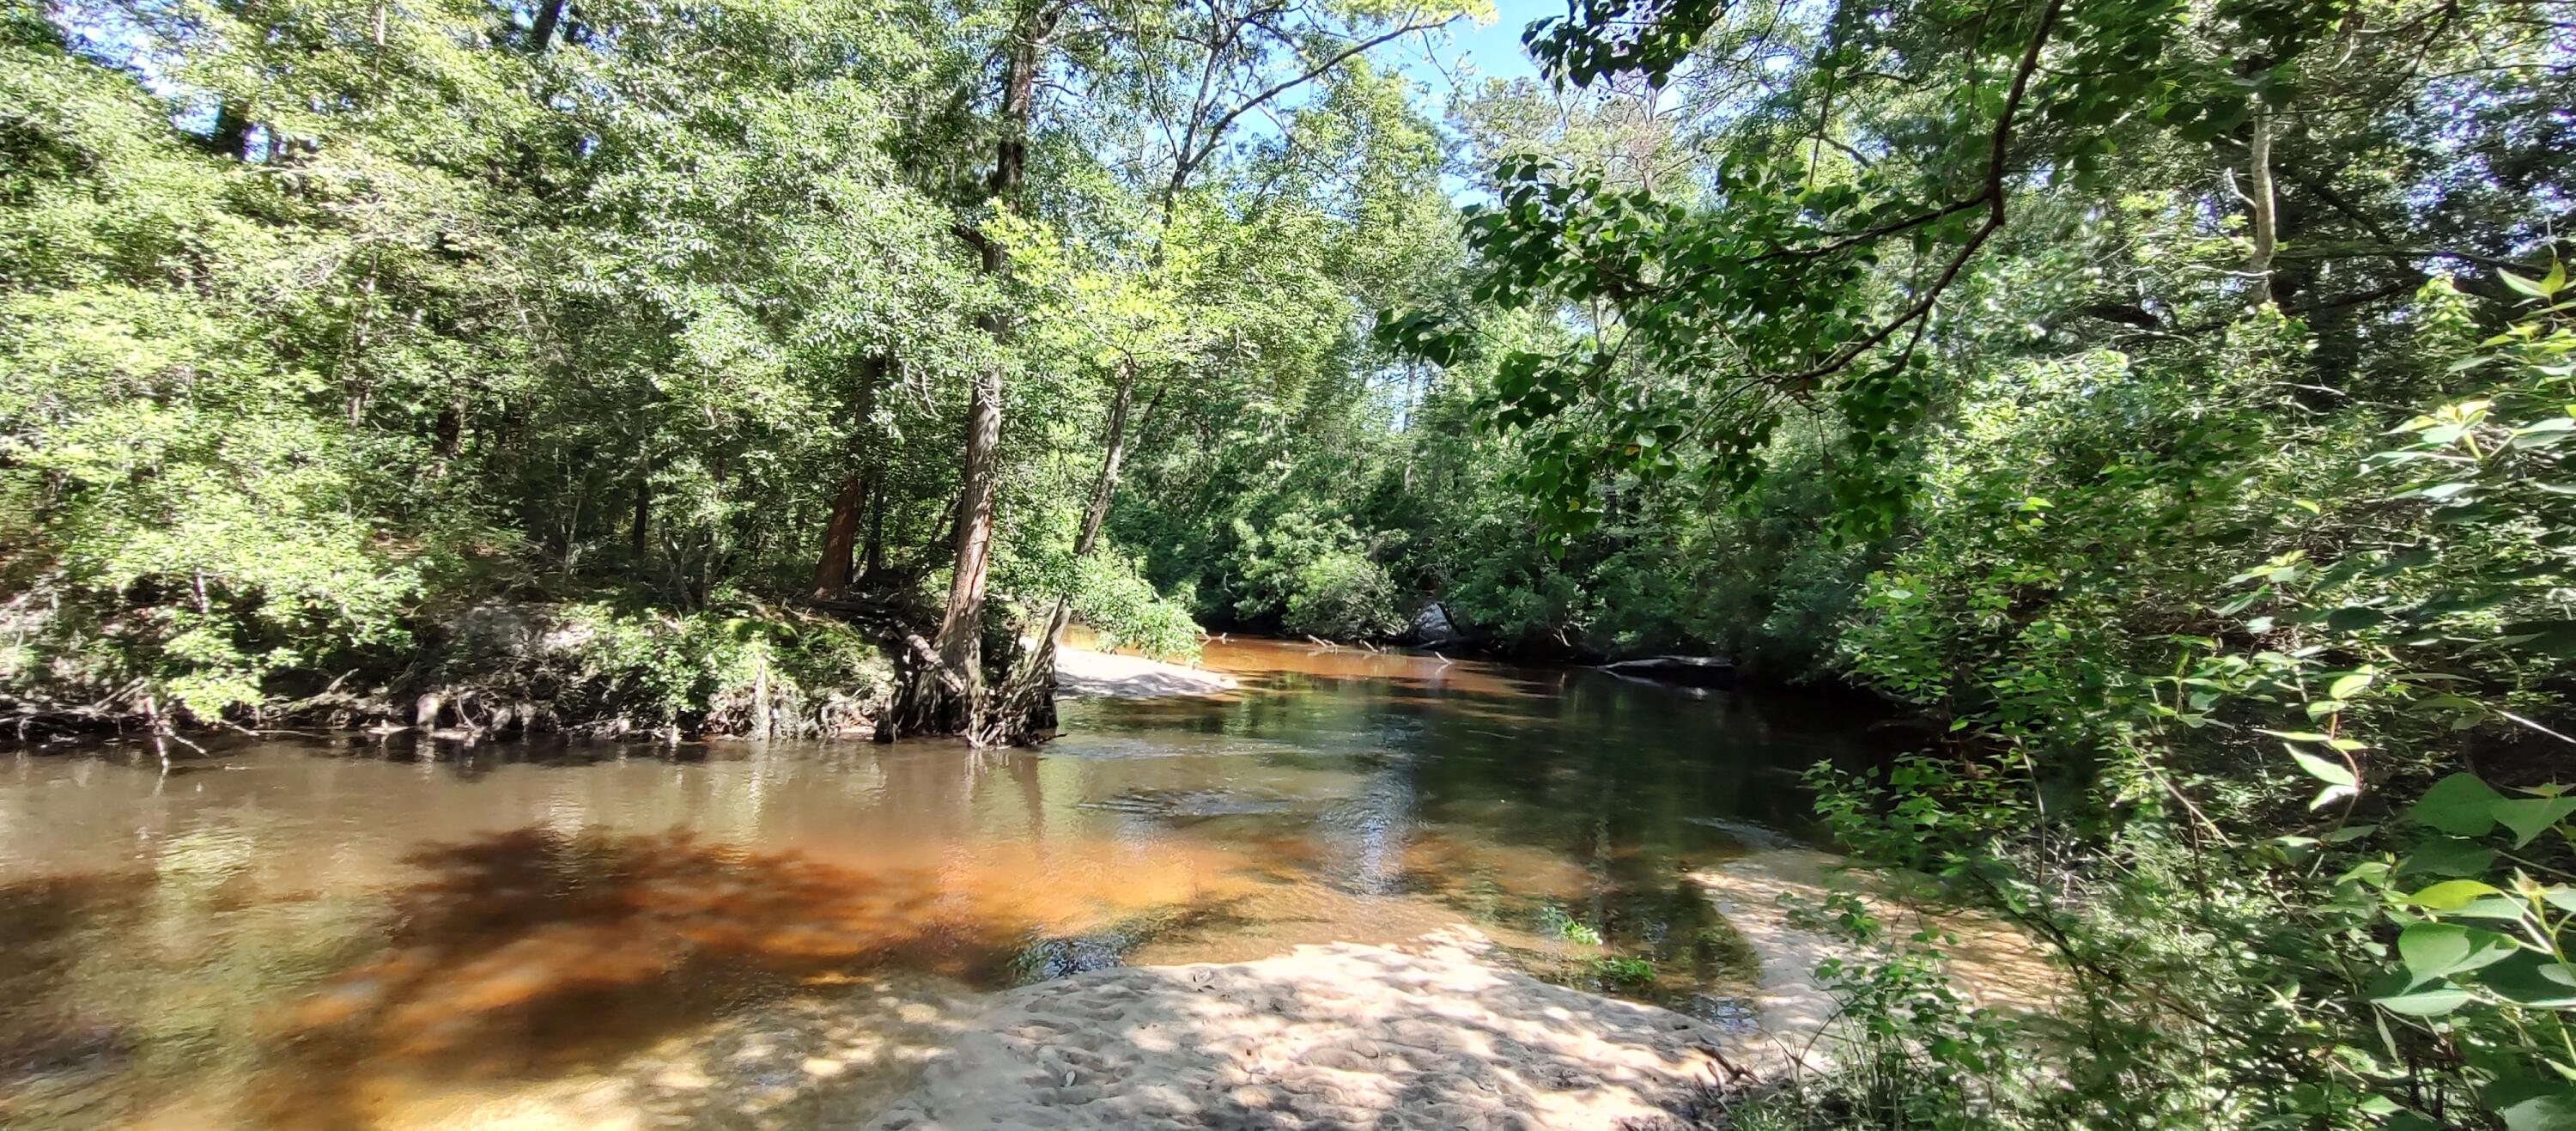
[{"label": "low leafy shrubs on the right bank, beneath the overhanging branches", "polygon": [[[2524,283],[2543,301],[2563,286]],[[2027,572],[2045,559],[2014,538],[2105,508],[2066,482],[1873,582],[1857,670],[1945,708],[1965,742],[1886,778],[1819,770],[1824,812],[1862,853],[2053,943],[2081,994],[2058,1018],[2076,1054],[2063,1087],[2009,1082],[2017,1118],[2537,1128],[2576,1098],[2576,799],[2550,760],[2514,788],[2452,768],[2478,737],[2568,742],[2530,714],[2555,714],[2537,688],[2568,672],[2548,626],[2576,567],[2550,489],[2571,353],[2548,307],[2452,366],[2478,384],[2401,417],[2391,451],[2362,459],[2375,430],[2344,420],[2262,435],[2179,510],[2141,513],[2112,479],[2117,520],[2174,554],[2210,520],[2244,551],[2272,549],[2246,528],[2298,546],[2221,572],[2120,538],[2154,605],[2071,585],[2063,554]],[[2030,489],[2009,466],[1986,477],[2007,477],[1996,497]],[[2177,595],[2208,611],[2187,631],[2156,623]]]}]

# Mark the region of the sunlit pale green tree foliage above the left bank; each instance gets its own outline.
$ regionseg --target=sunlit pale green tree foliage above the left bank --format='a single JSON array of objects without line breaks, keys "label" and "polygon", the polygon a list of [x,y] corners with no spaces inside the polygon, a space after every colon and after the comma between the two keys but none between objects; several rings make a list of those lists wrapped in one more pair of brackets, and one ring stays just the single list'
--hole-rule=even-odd
[{"label": "sunlit pale green tree foliage above the left bank", "polygon": [[[732,727],[739,670],[768,660],[701,623],[719,605],[848,587],[827,556],[863,608],[912,616],[943,587],[987,379],[1010,420],[994,575],[1190,654],[1188,585],[1154,590],[1115,533],[1069,551],[1090,487],[1118,484],[1108,389],[1144,433],[1347,381],[1352,312],[1450,245],[1409,85],[1363,54],[1306,75],[1316,44],[1450,10],[1069,21],[1087,31],[1038,59],[1061,103],[1012,142],[1023,209],[994,206],[987,167],[1018,129],[984,75],[1018,36],[1002,10],[0,15],[10,719],[422,690],[451,647],[438,611],[507,593],[621,611],[605,667],[531,675],[592,688],[567,708]],[[1185,39],[1208,18],[1234,49]],[[1141,155],[1128,129],[1298,75],[1226,116],[1288,126],[1260,142],[1198,129],[1224,106],[1193,111],[1188,149]],[[1347,546],[1283,569],[1298,623],[1386,629],[1396,593]]]}]

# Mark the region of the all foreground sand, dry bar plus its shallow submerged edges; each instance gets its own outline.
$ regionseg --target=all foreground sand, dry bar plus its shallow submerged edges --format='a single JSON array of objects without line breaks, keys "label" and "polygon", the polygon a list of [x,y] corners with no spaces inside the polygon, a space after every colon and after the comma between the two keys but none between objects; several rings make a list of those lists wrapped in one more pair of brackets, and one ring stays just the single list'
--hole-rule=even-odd
[{"label": "all foreground sand, dry bar plus its shallow submerged edges", "polygon": [[[1855,889],[1893,930],[1960,938],[1976,1000],[2045,1010],[2056,974],[2007,927],[1891,904],[1814,850],[1692,876],[1759,956],[1754,1025],[1538,982],[1468,927],[1231,964],[1113,966],[999,994],[938,976],[806,987],[595,1072],[402,1079],[376,1126],[793,1128],[1602,1128],[1682,1131],[1708,1087],[1832,1059],[1814,969],[1844,946],[1790,912]],[[222,1123],[173,1108],[137,1126]]]}]

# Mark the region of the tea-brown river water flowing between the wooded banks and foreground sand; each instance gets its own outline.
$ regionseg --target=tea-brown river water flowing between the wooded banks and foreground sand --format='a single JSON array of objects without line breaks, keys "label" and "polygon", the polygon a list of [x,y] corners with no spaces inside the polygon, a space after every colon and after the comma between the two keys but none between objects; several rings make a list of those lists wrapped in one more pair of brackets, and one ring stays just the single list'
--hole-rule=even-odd
[{"label": "tea-brown river water flowing between the wooded banks and foreground sand", "polygon": [[0,1126],[848,1126],[981,992],[1453,922],[1741,1020],[1744,946],[1685,873],[1795,842],[1798,770],[1886,745],[1587,670],[1206,665],[1242,690],[1066,701],[1007,755],[0,752]]}]

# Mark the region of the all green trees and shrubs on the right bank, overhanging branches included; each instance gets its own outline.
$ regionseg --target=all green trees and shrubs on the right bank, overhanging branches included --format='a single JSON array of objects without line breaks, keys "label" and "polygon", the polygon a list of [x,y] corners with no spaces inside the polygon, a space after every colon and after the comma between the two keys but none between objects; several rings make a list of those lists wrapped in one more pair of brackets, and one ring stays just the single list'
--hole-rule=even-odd
[{"label": "all green trees and shrubs on the right bank, overhanging branches included", "polygon": [[1919,706],[1824,814],[2069,974],[2012,1036],[1883,946],[1844,1072],[1747,1126],[2561,1121],[2561,33],[1584,3],[1528,36],[1553,106],[1461,108],[1468,268],[1378,343],[1476,433],[1399,562],[1510,644]]}]

